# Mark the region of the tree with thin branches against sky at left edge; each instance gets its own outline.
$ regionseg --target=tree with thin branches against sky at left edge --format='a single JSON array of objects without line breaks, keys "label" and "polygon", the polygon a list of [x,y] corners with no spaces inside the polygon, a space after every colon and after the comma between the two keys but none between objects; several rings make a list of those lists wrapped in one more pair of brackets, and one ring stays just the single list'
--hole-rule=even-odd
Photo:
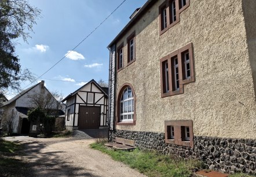
[{"label": "tree with thin branches against sky at left edge", "polygon": [[20,90],[20,82],[34,80],[28,69],[21,71],[19,58],[14,54],[13,39],[22,37],[25,42],[36,24],[41,10],[25,0],[0,0],[0,93],[6,89]]}]

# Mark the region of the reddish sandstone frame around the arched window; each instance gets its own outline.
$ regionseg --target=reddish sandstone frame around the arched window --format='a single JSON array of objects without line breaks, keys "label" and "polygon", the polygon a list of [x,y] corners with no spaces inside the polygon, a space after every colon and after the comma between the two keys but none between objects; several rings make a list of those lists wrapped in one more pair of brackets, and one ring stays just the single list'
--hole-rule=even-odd
[{"label": "reddish sandstone frame around the arched window", "polygon": [[[131,91],[133,93],[133,104],[134,104],[134,113],[133,113],[133,120],[131,121],[120,121],[120,99],[122,97],[123,91],[130,87]],[[118,91],[118,97],[116,99],[116,125],[118,126],[135,126],[136,125],[136,94],[133,89],[133,86],[130,83],[124,83],[120,87],[120,90]]]}]

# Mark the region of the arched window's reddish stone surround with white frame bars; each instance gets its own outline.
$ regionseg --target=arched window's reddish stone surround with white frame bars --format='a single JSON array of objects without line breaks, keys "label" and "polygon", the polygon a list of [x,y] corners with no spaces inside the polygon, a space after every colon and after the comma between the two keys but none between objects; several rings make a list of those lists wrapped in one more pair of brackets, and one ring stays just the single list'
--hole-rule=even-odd
[{"label": "arched window's reddish stone surround with white frame bars", "polygon": [[[121,112],[120,112],[120,103],[121,97],[124,93],[124,91],[127,89],[127,87],[131,88],[132,94],[133,94],[133,119],[132,120],[120,120]],[[118,98],[116,99],[116,125],[126,125],[126,126],[135,126],[136,124],[136,94],[134,92],[133,86],[131,86],[130,83],[124,83],[121,87],[121,89],[118,91]],[[131,98],[128,98],[126,101],[131,100]],[[126,113],[126,115],[131,115],[131,113]],[[122,115],[124,115],[122,113]]]}]

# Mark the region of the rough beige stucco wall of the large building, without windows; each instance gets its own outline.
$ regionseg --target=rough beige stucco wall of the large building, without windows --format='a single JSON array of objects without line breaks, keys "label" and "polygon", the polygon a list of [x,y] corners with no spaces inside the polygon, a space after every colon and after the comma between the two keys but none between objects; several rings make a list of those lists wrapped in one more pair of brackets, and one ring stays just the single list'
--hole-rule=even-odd
[{"label": "rough beige stucco wall of the large building, without windows", "polygon": [[[195,0],[180,22],[159,36],[158,1],[130,29],[125,68],[117,73],[136,93],[136,126],[117,129],[164,132],[164,120],[193,120],[194,135],[256,138],[254,84],[242,0]],[[254,12],[255,13],[255,12]],[[255,25],[255,23],[254,23]],[[127,66],[126,38],[136,30],[136,61]],[[160,58],[192,42],[195,82],[184,94],[161,98]],[[255,48],[254,48],[255,49]]]}]

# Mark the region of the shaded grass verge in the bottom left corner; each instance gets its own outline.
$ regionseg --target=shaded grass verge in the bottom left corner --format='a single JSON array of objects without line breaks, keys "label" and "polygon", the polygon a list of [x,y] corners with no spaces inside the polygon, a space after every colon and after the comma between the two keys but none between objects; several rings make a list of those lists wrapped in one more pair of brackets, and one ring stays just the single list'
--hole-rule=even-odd
[{"label": "shaded grass verge in the bottom left corner", "polygon": [[0,139],[0,176],[33,176],[30,165],[14,158],[23,146]]}]

